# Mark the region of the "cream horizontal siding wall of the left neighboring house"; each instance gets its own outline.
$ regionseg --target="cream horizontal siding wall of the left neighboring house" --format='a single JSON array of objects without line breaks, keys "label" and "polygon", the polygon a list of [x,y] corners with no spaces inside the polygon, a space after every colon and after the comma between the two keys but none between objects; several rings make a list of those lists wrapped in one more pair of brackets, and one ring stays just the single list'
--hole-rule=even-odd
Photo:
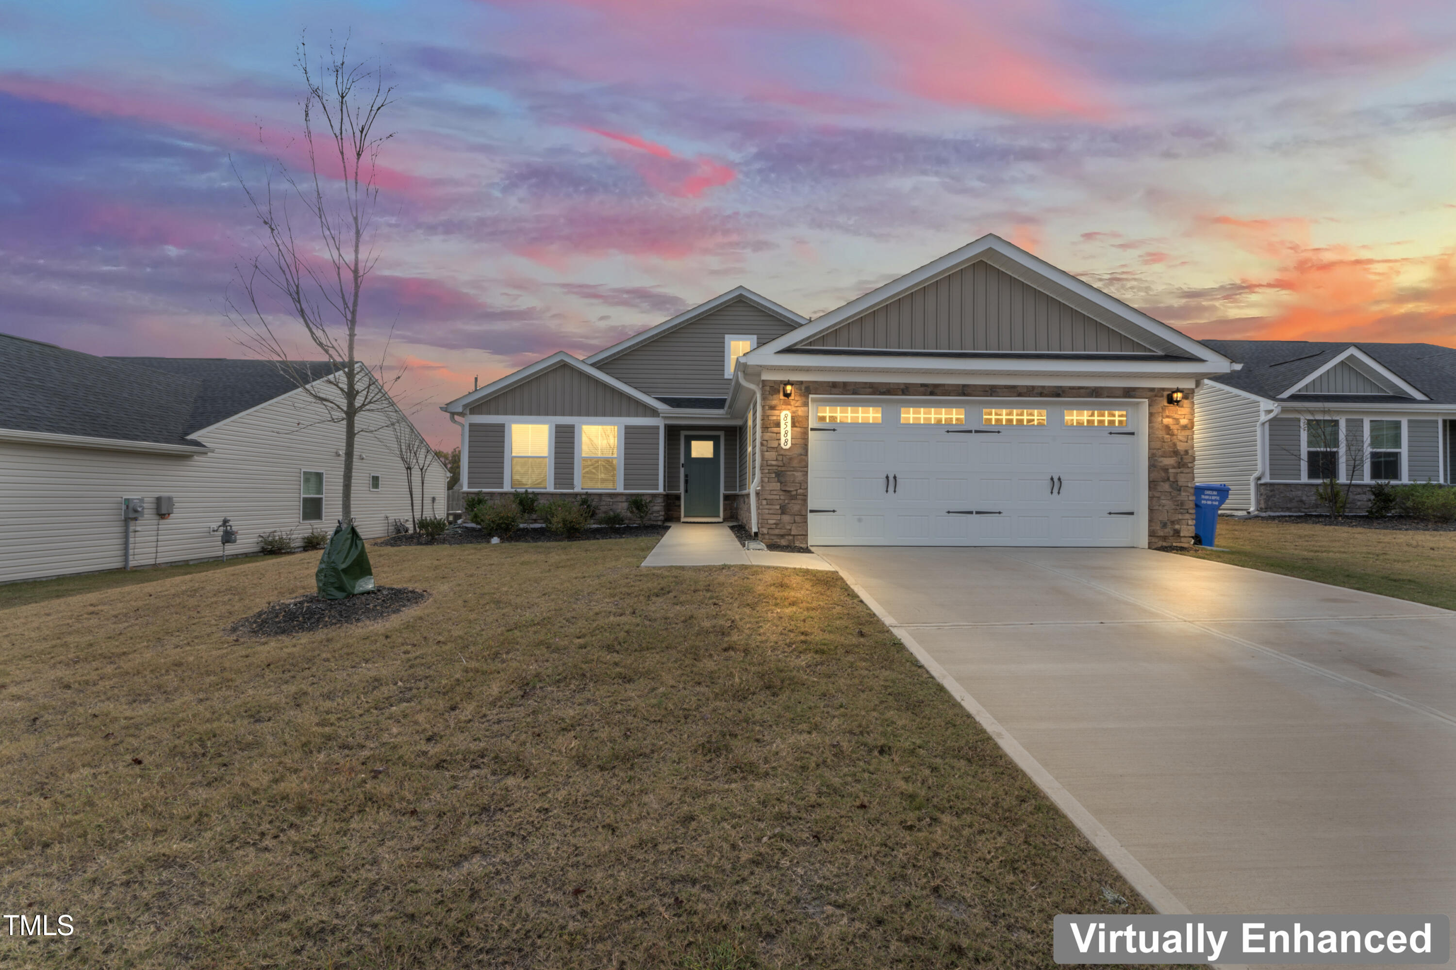
[{"label": "cream horizontal siding wall of the left neighboring house", "polygon": [[[291,532],[297,544],[313,529],[332,532],[344,480],[344,426],[320,420],[322,406],[303,391],[224,420],[194,438],[214,448],[199,455],[149,455],[55,445],[0,442],[0,582],[121,569],[122,496],[141,496],[146,518],[131,525],[131,563],[160,566],[218,558],[211,528],[230,518],[237,544],[229,556],[256,553],[262,532]],[[383,428],[368,416],[363,429]],[[364,538],[409,521],[405,468],[387,432],[357,439],[354,522]],[[323,521],[300,521],[300,473],[323,473]],[[370,492],[371,474],[380,490]],[[425,473],[425,513],[446,513],[446,471]],[[176,510],[156,516],[156,497]],[[419,474],[415,473],[415,503]]]}]

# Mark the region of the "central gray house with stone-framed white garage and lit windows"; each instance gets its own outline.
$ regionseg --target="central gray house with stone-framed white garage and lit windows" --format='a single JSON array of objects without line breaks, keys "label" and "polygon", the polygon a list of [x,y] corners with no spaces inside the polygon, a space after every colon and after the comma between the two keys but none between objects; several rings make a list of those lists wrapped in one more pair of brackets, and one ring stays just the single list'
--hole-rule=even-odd
[{"label": "central gray house with stone-framed white garage and lit windows", "polygon": [[812,321],[740,286],[444,410],[467,492],[785,545],[1147,545],[1192,535],[1185,398],[1233,366],[984,236]]}]

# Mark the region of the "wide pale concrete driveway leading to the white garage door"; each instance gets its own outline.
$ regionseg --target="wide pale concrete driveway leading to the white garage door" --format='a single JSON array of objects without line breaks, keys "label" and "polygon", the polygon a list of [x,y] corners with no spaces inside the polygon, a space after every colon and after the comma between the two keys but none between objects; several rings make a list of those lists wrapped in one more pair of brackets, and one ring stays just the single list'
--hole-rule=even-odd
[{"label": "wide pale concrete driveway leading to the white garage door", "polygon": [[1147,550],[817,551],[1163,912],[1456,912],[1456,612]]}]

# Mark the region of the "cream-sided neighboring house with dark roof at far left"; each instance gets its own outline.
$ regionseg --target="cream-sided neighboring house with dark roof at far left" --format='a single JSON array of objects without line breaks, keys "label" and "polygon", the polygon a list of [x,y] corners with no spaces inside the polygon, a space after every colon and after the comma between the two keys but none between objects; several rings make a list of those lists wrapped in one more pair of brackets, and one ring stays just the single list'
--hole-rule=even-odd
[{"label": "cream-sided neighboring house with dark roof at far left", "polygon": [[[0,582],[119,569],[128,548],[132,566],[215,558],[223,518],[237,531],[229,553],[339,518],[342,425],[266,361],[103,358],[0,334]],[[370,414],[365,432],[384,425]],[[355,525],[384,535],[409,521],[403,465],[389,432],[355,451]],[[444,515],[444,486],[435,460],[427,512]],[[122,497],[144,515],[124,521]]]}]

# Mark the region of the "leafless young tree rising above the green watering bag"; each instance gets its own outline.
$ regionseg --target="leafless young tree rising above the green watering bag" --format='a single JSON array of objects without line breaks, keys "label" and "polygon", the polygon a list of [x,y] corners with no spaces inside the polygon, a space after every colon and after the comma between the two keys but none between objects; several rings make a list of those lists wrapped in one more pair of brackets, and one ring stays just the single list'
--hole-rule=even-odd
[{"label": "leafless young tree rising above the green watering bag", "polygon": [[[377,65],[349,64],[347,41],[338,49],[331,44],[328,58],[310,67],[300,39],[297,67],[306,89],[300,108],[309,173],[296,177],[275,159],[264,183],[249,186],[233,163],[266,236],[264,250],[236,268],[240,295],[229,288],[226,313],[245,348],[317,401],[326,420],[344,425],[342,513],[348,522],[361,420],[397,413],[390,391],[403,377],[396,372],[386,380],[387,342],[374,366],[358,356],[364,281],[379,260],[371,228],[379,204],[376,167],[380,148],[393,137],[376,134],[376,125],[393,103],[395,89],[384,84]],[[297,233],[296,214],[301,217]],[[300,343],[312,345],[309,353],[322,355],[326,366],[296,359],[288,333],[307,337]]]}]

